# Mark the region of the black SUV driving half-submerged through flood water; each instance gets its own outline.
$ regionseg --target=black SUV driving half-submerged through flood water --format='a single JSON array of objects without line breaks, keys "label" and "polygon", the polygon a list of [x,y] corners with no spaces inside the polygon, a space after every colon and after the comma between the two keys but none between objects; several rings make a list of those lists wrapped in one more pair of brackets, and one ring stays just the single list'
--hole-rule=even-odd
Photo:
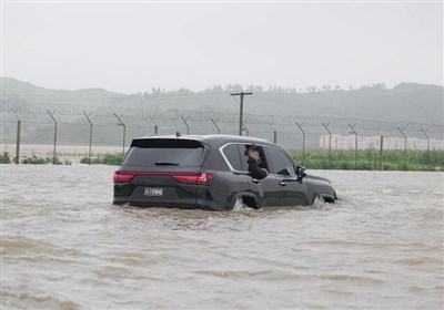
[{"label": "black SUV driving half-submerged through flood water", "polygon": [[[260,147],[269,175],[248,172],[248,149]],[[306,175],[278,145],[248,136],[147,136],[135,138],[114,172],[113,204],[230,210],[312,205],[336,200],[326,178]]]}]

